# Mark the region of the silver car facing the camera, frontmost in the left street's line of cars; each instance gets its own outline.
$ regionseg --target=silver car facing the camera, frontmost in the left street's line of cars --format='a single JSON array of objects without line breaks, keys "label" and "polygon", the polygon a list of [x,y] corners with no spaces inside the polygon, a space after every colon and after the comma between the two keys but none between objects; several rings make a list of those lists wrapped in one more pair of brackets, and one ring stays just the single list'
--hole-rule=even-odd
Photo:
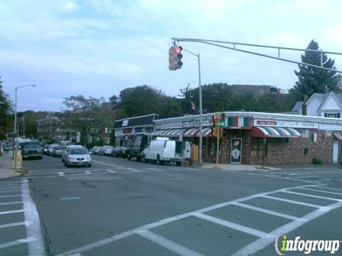
[{"label": "silver car facing the camera, frontmost in the left street's line of cars", "polygon": [[68,149],[64,165],[69,166],[91,166],[91,156],[85,147],[71,147]]}]

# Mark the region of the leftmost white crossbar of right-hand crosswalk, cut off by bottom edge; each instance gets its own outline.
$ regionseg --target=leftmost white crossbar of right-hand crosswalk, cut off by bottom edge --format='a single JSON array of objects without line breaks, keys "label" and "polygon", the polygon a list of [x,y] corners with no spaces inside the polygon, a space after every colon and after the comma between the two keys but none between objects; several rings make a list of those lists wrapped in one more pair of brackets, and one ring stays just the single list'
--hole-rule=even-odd
[{"label": "leftmost white crossbar of right-hand crosswalk, cut off by bottom edge", "polygon": [[161,235],[157,235],[149,230],[139,230],[135,231],[137,235],[140,235],[142,238],[146,238],[151,242],[155,242],[157,245],[165,247],[167,250],[175,252],[177,255],[184,256],[201,256],[202,254],[195,252],[183,245],[177,244],[177,242],[173,242],[170,239],[164,238]]}]

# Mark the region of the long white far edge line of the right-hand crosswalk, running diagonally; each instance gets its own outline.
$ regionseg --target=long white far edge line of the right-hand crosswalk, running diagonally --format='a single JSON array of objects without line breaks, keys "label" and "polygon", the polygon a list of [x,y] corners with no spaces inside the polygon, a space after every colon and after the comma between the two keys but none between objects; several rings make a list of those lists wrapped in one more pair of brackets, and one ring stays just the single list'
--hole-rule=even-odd
[{"label": "long white far edge line of the right-hand crosswalk, running diagonally", "polygon": [[[314,185],[305,185],[305,186],[296,186],[296,187],[292,187],[292,188],[287,188],[287,189],[294,189],[294,188],[304,188],[304,187],[307,187],[307,186],[314,186]],[[229,204],[232,204],[234,202],[242,202],[242,201],[248,201],[248,200],[251,200],[253,198],[257,198],[257,197],[260,197],[260,196],[266,196],[266,195],[269,195],[271,193],[276,193],[276,192],[280,192],[282,191],[283,189],[286,189],[286,188],[281,188],[281,189],[278,189],[276,191],[269,191],[269,192],[264,192],[264,193],[258,193],[258,194],[254,194],[254,195],[251,195],[251,196],[246,196],[244,198],[239,198],[237,200],[234,200],[234,201],[227,201],[227,202],[224,202],[224,203],[218,203],[214,206],[208,206],[208,207],[205,207],[205,208],[202,208],[202,209],[199,209],[199,210],[194,210],[192,212],[188,212],[188,213],[182,213],[180,215],[175,215],[173,217],[170,217],[170,218],[165,218],[165,219],[162,219],[162,220],[158,220],[154,223],[149,223],[149,224],[146,224],[146,225],[142,225],[138,228],[133,228],[132,230],[128,230],[128,231],[125,231],[123,233],[119,233],[117,235],[113,235],[109,238],[104,238],[102,240],[98,240],[98,241],[95,241],[95,242],[92,242],[88,245],[83,245],[82,247],[78,247],[74,250],[69,250],[68,252],[63,252],[57,256],[67,256],[67,255],[71,255],[73,253],[82,253],[82,252],[88,252],[89,250],[93,250],[95,248],[98,248],[98,247],[101,247],[101,246],[104,246],[104,245],[108,245],[110,244],[111,242],[115,242],[117,240],[120,240],[120,239],[123,239],[123,238],[127,238],[128,236],[130,235],[134,235],[135,231],[138,231],[138,230],[147,230],[147,229],[151,229],[151,228],[156,228],[156,227],[159,227],[161,225],[165,225],[167,223],[172,223],[173,221],[176,221],[176,220],[182,220],[184,218],[187,218],[187,217],[190,217],[192,216],[193,213],[205,213],[207,211],[210,211],[210,210],[215,210],[215,209],[218,209],[218,208],[222,208],[224,206],[229,206]],[[296,202],[296,203],[299,203],[299,202]],[[309,204],[305,204],[305,205],[309,205]],[[311,206],[314,206],[314,205],[311,205]],[[316,206],[316,208],[320,208],[321,206]]]}]

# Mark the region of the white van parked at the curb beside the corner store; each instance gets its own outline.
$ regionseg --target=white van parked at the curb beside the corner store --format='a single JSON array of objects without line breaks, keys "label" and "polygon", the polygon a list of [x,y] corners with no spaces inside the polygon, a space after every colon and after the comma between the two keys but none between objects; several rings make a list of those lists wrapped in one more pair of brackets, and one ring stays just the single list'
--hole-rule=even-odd
[{"label": "white van parked at the curb beside the corner store", "polygon": [[152,140],[150,146],[142,151],[142,161],[152,160],[157,164],[175,162],[177,166],[180,166],[182,161],[189,157],[190,142],[175,140]]}]

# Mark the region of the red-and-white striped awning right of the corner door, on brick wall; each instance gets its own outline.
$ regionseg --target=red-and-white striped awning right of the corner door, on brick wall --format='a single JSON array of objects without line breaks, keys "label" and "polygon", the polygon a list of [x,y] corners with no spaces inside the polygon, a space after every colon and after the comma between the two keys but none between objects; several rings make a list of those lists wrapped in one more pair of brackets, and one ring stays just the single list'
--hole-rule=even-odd
[{"label": "red-and-white striped awning right of the corner door, on brick wall", "polygon": [[251,137],[297,138],[301,134],[287,127],[252,127]]}]

